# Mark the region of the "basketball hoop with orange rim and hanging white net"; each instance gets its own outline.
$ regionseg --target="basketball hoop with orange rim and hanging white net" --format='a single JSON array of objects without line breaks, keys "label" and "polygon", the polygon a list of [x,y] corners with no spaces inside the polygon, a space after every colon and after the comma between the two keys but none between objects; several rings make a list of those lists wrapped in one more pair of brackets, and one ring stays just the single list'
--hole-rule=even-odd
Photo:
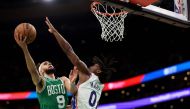
[{"label": "basketball hoop with orange rim and hanging white net", "polygon": [[107,42],[122,41],[126,11],[100,2],[92,2],[91,11],[101,24],[103,40]]}]

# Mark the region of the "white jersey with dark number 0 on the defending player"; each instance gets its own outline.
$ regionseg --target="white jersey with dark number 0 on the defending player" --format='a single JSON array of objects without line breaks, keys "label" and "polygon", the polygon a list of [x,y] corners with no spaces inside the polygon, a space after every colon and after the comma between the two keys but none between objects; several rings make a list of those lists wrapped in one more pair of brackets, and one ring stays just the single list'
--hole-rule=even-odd
[{"label": "white jersey with dark number 0 on the defending player", "polygon": [[72,109],[96,109],[103,87],[92,73],[86,82],[79,85],[77,95],[72,100]]}]

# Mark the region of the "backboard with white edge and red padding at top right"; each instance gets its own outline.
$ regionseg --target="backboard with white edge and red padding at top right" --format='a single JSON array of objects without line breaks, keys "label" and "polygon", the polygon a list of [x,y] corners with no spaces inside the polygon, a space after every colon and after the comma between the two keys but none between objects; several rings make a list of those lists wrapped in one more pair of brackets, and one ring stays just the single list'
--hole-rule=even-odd
[{"label": "backboard with white edge and red padding at top right", "polygon": [[[107,5],[124,9],[131,14],[148,17],[182,28],[190,27],[190,0],[174,0],[174,9],[159,6],[164,0],[99,0]],[[155,5],[156,4],[156,5]]]}]

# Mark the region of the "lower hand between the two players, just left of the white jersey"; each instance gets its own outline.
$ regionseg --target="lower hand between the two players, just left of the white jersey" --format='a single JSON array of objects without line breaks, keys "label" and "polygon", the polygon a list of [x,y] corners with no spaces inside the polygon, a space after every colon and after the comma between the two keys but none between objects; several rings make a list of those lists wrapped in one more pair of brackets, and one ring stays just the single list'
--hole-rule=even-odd
[{"label": "lower hand between the two players, just left of the white jersey", "polygon": [[78,77],[78,68],[74,66],[74,68],[70,71],[69,80],[74,83]]}]

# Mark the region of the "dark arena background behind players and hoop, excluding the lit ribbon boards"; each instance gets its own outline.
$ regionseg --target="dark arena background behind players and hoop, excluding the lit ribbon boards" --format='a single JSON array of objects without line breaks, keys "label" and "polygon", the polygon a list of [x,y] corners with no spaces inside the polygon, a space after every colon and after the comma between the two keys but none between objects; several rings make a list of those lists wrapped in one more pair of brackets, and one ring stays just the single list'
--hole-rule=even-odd
[{"label": "dark arena background behind players and hoop, excluding the lit ribbon boards", "polygon": [[[21,22],[36,27],[37,38],[29,45],[35,62],[50,60],[57,67],[57,76],[66,75],[72,64],[48,32],[45,16],[71,43],[78,56],[91,63],[97,55],[115,59],[116,72],[108,82],[124,80],[140,74],[189,61],[189,28],[175,27],[152,19],[129,14],[125,19],[124,39],[105,42],[101,27],[84,0],[1,0],[0,1],[0,93],[35,91],[26,69],[21,49],[15,43],[14,28]],[[162,8],[173,10],[173,0],[164,0]],[[185,70],[144,84],[104,91],[100,105],[137,100],[172,92],[190,86],[190,73]],[[189,109],[189,97],[151,104],[136,109]],[[37,99],[0,100],[0,109],[39,109]]]}]

